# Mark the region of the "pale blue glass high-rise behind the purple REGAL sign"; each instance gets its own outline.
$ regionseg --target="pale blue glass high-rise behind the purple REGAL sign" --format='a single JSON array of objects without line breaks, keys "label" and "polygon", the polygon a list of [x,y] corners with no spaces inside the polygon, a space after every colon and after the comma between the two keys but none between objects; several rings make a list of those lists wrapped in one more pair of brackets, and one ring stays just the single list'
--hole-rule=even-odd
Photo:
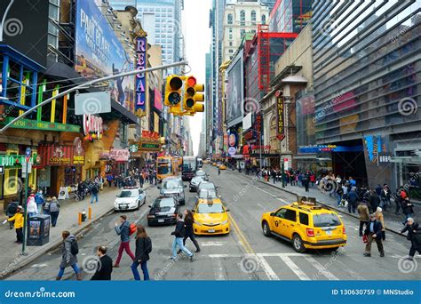
[{"label": "pale blue glass high-rise behind the purple REGAL sign", "polygon": [[[149,44],[159,44],[163,49],[163,64],[183,58],[183,32],[181,10],[184,0],[111,0],[114,9],[123,10],[132,5],[138,9],[138,18],[147,32]],[[169,68],[169,74],[179,74],[180,68]]]}]

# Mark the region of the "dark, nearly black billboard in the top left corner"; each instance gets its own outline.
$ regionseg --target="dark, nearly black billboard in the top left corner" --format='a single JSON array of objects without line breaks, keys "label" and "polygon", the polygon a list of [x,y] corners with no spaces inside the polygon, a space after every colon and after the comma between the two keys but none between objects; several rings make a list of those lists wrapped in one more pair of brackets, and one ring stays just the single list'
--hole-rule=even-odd
[{"label": "dark, nearly black billboard in the top left corner", "polygon": [[0,1],[0,26],[3,25],[0,44],[10,45],[46,68],[49,2],[32,2]]}]

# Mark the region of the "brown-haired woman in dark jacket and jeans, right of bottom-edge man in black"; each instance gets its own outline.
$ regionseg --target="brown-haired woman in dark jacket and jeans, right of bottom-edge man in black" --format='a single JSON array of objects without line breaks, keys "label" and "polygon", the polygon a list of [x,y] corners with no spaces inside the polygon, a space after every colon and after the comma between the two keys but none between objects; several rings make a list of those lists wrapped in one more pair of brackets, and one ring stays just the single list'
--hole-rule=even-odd
[{"label": "brown-haired woman in dark jacket and jeans, right of bottom-edge man in black", "polygon": [[149,260],[149,253],[152,252],[152,241],[147,236],[147,231],[142,225],[138,225],[136,233],[136,252],[133,263],[131,264],[131,272],[133,273],[135,281],[140,281],[138,267],[143,271],[143,279],[149,280],[149,271],[147,271],[147,261]]}]

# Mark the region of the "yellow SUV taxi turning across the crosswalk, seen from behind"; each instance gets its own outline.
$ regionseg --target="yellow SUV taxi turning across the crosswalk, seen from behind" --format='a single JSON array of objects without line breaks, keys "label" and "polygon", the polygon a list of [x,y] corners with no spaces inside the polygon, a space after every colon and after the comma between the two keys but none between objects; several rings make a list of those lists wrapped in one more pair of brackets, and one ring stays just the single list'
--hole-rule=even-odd
[{"label": "yellow SUV taxi turning across the crosswalk, seen from behind", "polygon": [[316,204],[313,197],[298,196],[297,203],[264,213],[261,224],[265,236],[292,243],[296,252],[346,245],[346,229],[338,213]]}]

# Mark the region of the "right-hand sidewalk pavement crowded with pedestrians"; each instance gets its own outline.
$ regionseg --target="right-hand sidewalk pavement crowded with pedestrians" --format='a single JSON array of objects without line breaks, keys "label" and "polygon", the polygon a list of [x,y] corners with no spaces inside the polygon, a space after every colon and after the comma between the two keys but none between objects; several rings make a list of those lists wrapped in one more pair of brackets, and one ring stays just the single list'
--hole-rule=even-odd
[{"label": "right-hand sidewalk pavement crowded with pedestrians", "polygon": [[[242,173],[244,176],[249,177],[250,179],[254,178],[255,175],[246,175],[245,173]],[[338,207],[338,200],[337,198],[332,195],[331,197],[329,194],[322,193],[318,188],[309,188],[310,192],[306,192],[306,189],[304,187],[298,187],[298,186],[285,186],[285,188],[282,188],[282,182],[276,182],[274,184],[273,180],[265,181],[265,180],[258,180],[258,182],[264,183],[266,185],[272,186],[274,188],[281,189],[282,191],[288,192],[291,195],[294,196],[310,196],[315,197],[318,203],[326,204],[331,209],[334,209],[338,212],[346,213],[350,216],[353,216],[355,219],[359,219],[357,213],[349,213],[347,208]],[[402,220],[404,218],[404,215],[401,213],[400,215],[394,214],[395,210],[395,204],[392,201],[392,205],[387,209],[387,211],[383,212],[383,215],[385,217],[385,228],[386,230],[390,230],[394,233],[399,233],[401,229],[403,228]],[[417,212],[417,210],[415,210]],[[417,217],[417,214],[415,215]]]}]

